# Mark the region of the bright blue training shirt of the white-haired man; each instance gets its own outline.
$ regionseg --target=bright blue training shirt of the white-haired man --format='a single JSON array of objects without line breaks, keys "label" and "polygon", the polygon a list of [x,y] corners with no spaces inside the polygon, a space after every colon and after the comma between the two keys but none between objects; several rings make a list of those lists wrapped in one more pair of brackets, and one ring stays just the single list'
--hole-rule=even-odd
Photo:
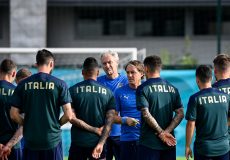
[{"label": "bright blue training shirt of the white-haired man", "polygon": [[[113,94],[117,88],[120,88],[128,84],[128,79],[126,76],[119,74],[115,79],[110,79],[106,75],[97,78],[97,81],[104,84],[106,87],[112,90]],[[110,136],[120,136],[121,135],[121,125],[113,124],[110,132]]]}]

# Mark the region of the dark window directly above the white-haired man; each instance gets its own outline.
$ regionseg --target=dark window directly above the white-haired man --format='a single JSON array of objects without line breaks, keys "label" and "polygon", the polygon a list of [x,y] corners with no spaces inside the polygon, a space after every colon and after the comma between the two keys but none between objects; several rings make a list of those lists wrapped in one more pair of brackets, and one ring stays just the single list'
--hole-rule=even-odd
[{"label": "dark window directly above the white-haired man", "polygon": [[116,8],[76,8],[76,36],[125,35],[125,10]]}]

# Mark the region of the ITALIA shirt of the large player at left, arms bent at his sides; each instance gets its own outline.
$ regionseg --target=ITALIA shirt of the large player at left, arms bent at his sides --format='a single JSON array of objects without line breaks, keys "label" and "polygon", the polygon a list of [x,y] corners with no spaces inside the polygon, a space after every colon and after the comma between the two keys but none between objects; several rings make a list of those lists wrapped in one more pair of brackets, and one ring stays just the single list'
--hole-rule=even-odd
[{"label": "ITALIA shirt of the large player at left, arms bent at his sides", "polygon": [[60,142],[60,106],[69,102],[68,93],[64,81],[42,72],[19,83],[14,93],[14,106],[25,113],[25,146],[49,149]]}]

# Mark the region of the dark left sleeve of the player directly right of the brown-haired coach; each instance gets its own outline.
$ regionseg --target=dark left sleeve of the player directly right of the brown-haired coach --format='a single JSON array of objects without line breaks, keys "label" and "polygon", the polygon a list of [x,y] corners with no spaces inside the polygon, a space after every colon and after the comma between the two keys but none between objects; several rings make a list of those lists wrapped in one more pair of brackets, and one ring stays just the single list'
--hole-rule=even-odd
[{"label": "dark left sleeve of the player directly right of the brown-haired coach", "polygon": [[137,88],[136,105],[137,105],[137,110],[141,110],[142,108],[149,107],[149,102],[147,100],[147,97],[142,87]]}]

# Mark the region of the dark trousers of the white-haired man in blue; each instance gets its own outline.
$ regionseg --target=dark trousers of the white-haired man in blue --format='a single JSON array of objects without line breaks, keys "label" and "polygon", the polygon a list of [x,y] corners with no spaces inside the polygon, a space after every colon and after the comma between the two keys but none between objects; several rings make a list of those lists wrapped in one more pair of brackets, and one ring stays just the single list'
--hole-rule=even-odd
[{"label": "dark trousers of the white-haired man in blue", "polygon": [[106,160],[120,160],[120,136],[110,136],[106,141]]}]

